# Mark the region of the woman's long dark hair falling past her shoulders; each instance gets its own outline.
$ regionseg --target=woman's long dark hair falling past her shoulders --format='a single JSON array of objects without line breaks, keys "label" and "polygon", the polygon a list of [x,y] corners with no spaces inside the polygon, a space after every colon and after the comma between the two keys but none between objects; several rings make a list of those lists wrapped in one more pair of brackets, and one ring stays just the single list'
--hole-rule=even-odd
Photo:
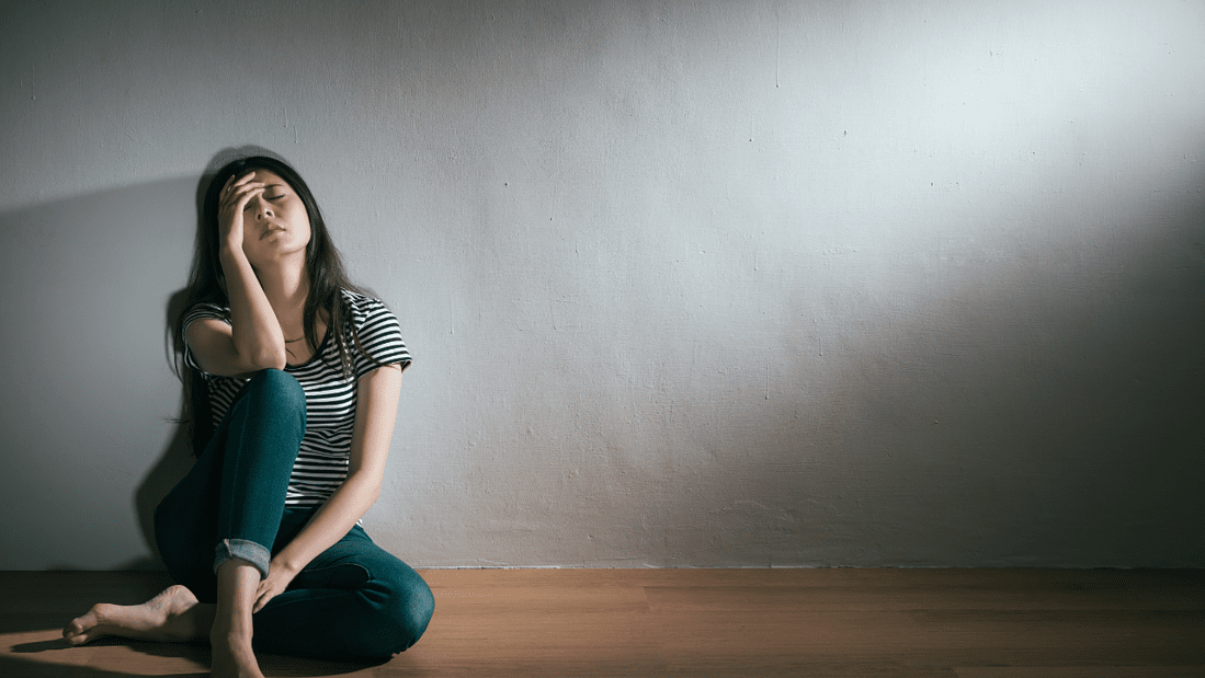
[{"label": "woman's long dark hair falling past her shoulders", "polygon": [[[348,347],[351,342],[365,355],[368,352],[360,346],[359,335],[351,322],[351,309],[342,291],[351,290],[360,294],[369,294],[368,290],[352,284],[347,278],[347,270],[343,260],[330,240],[327,223],[322,218],[318,202],[310,191],[301,175],[287,163],[277,158],[266,155],[253,155],[239,158],[227,163],[211,178],[200,205],[200,219],[198,223],[196,249],[193,255],[193,266],[188,276],[188,287],[184,288],[184,303],[180,313],[171,320],[172,340],[177,355],[183,353],[184,328],[183,319],[188,312],[198,303],[217,303],[228,306],[230,303],[225,290],[225,275],[222,271],[222,261],[218,259],[219,226],[218,226],[218,201],[222,188],[230,177],[241,177],[254,170],[266,170],[284,179],[301,199],[306,213],[310,216],[310,243],[306,246],[305,261],[306,273],[310,282],[310,294],[306,297],[302,311],[302,323],[305,325],[306,342],[315,349],[321,348],[318,336],[319,320],[327,322],[327,332],[331,335],[339,348],[339,367],[345,378],[351,378],[352,358]],[[319,360],[323,358],[319,355]],[[369,355],[369,359],[372,359]],[[193,426],[193,454],[200,454],[208,444],[213,435],[213,418],[210,409],[208,387],[195,370],[177,369],[184,382],[188,411],[184,420],[190,420]]]}]

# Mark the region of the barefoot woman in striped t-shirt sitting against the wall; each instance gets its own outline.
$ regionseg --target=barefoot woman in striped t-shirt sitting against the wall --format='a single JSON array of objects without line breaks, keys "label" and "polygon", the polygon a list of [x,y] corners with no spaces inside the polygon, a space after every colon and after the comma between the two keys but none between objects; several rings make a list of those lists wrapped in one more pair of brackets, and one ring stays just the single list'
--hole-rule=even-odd
[{"label": "barefoot woman in striped t-shirt sitting against the wall", "polygon": [[63,635],[207,636],[213,676],[261,676],[253,650],[388,659],[434,611],[418,573],[359,526],[410,365],[398,320],[347,282],[310,189],[280,160],[218,170],[202,224],[174,328],[201,452],[155,511],[177,584],[96,605]]}]

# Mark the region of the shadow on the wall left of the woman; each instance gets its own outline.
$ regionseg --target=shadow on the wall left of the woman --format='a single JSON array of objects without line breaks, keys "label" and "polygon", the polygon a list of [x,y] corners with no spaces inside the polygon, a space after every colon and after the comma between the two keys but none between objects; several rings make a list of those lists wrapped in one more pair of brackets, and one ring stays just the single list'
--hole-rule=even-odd
[{"label": "shadow on the wall left of the woman", "polygon": [[[188,270],[195,185],[167,179],[0,214],[0,303],[16,320],[0,329],[14,358],[0,426],[22,470],[0,479],[12,500],[2,531],[23,544],[0,553],[5,568],[81,558],[160,567],[128,554],[153,543],[151,511],[192,464],[172,423],[181,387],[164,312]],[[141,530],[122,508],[131,496]]]}]

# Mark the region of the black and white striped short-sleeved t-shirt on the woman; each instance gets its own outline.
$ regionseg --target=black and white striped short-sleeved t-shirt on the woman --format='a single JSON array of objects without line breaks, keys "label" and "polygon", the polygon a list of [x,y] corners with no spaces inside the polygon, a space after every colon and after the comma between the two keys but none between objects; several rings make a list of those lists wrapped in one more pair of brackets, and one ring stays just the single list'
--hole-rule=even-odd
[{"label": "black and white striped short-sleeved t-shirt on the woman", "polygon": [[[401,341],[398,318],[381,301],[343,290],[349,303],[349,318],[359,331],[360,346],[383,365],[398,364],[402,370],[410,366],[410,352]],[[230,323],[230,307],[217,303],[198,303],[184,316],[183,329],[201,318],[218,318]],[[352,431],[355,428],[357,382],[380,365],[355,348],[347,332],[352,378],[343,378],[339,361],[339,346],[331,338],[334,328],[328,328],[322,344],[304,365],[287,365],[284,372],[293,375],[305,390],[305,437],[293,474],[289,478],[287,506],[318,506],[347,479],[347,464],[352,450]],[[225,417],[230,403],[247,379],[210,375],[200,369],[193,352],[184,348],[184,364],[198,370],[208,384],[213,426]]]}]

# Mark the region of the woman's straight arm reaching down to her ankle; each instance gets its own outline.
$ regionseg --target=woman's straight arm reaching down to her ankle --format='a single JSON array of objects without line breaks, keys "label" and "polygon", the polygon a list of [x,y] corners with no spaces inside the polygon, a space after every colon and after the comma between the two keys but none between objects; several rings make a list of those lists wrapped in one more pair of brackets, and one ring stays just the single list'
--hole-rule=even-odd
[{"label": "woman's straight arm reaching down to her ankle", "polygon": [[318,508],[298,536],[272,558],[268,578],[259,583],[253,612],[259,612],[268,601],[283,592],[311,560],[343,538],[381,496],[384,462],[401,396],[401,367],[377,367],[360,377],[357,388],[347,481]]}]

